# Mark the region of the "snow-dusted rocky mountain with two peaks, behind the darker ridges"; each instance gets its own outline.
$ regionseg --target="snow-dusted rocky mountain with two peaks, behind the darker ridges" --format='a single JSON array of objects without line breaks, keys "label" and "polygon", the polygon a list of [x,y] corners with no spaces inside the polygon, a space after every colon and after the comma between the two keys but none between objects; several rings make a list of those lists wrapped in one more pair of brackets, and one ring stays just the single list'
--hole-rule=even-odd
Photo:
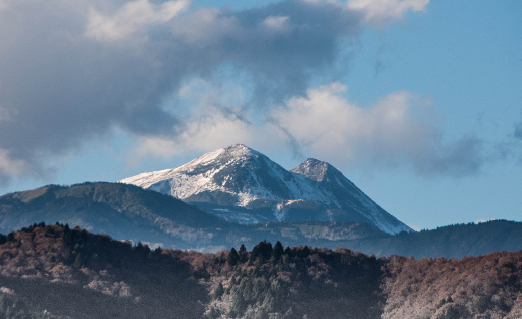
[{"label": "snow-dusted rocky mountain with two peaks, behind the darker ridges", "polygon": [[330,164],[309,158],[288,171],[241,144],[120,182],[170,194],[245,224],[337,220],[365,222],[390,234],[412,231]]}]

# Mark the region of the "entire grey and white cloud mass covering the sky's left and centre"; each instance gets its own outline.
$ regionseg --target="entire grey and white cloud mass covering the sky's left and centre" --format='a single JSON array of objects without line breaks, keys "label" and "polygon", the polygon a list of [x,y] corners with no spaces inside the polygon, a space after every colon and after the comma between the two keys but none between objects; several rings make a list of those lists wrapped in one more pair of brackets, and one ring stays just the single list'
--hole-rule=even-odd
[{"label": "entire grey and white cloud mass covering the sky's left and centre", "polygon": [[[474,171],[480,142],[444,144],[413,116],[422,99],[399,91],[359,107],[329,76],[365,28],[427,5],[283,0],[233,10],[193,9],[187,0],[2,0],[0,179],[45,174],[52,167],[43,158],[79,152],[116,129],[141,141],[144,156],[263,136],[354,165]],[[310,89],[317,75],[334,84]],[[183,100],[191,79],[235,76],[251,92],[242,105],[168,103]]]}]

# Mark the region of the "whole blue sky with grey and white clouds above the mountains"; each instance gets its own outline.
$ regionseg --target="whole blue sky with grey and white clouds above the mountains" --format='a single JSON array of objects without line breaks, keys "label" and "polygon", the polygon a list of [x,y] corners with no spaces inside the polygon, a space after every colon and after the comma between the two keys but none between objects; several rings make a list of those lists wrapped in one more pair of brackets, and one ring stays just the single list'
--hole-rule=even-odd
[{"label": "whole blue sky with grey and white clouds above the mountains", "polygon": [[522,2],[0,0],[0,193],[243,143],[413,228],[522,220]]}]

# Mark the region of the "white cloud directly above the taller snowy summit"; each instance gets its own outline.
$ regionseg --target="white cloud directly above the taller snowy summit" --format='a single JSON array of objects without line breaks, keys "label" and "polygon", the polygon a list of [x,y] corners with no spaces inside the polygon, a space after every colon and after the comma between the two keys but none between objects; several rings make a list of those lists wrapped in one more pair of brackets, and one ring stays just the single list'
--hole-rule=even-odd
[{"label": "white cloud directly above the taller snowy summit", "polygon": [[177,98],[190,105],[181,117],[182,127],[171,136],[140,138],[128,165],[138,165],[149,156],[168,160],[238,143],[259,149],[286,145],[286,136],[277,127],[259,121],[255,110],[243,107],[246,97],[236,83],[194,78],[181,86]]}]

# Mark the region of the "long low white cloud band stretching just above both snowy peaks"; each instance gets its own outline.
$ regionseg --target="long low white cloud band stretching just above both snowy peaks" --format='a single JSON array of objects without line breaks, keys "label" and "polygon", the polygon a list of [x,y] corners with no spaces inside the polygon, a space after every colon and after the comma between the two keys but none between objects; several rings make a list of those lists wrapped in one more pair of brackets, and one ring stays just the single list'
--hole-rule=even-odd
[{"label": "long low white cloud band stretching just above both snowy peaks", "polygon": [[[341,165],[367,168],[410,167],[423,176],[476,173],[484,145],[474,138],[445,142],[432,124],[434,103],[407,91],[390,93],[369,106],[345,97],[347,87],[334,82],[307,90],[304,96],[273,107],[263,121],[252,113],[223,112],[207,107],[185,119],[175,139],[146,138],[139,153],[159,157],[181,155],[232,143],[254,148],[288,149]],[[205,105],[211,105],[204,99]],[[213,101],[218,101],[214,96]],[[216,102],[219,104],[219,102]]]}]

